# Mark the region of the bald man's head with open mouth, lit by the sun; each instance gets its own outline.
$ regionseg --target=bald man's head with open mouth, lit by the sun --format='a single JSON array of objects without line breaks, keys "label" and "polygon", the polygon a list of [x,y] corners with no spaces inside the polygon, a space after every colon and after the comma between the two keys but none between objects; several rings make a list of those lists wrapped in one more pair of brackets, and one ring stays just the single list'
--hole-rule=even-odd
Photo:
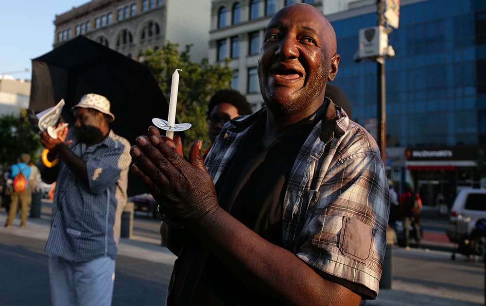
[{"label": "bald man's head with open mouth, lit by the sun", "polygon": [[258,65],[268,108],[292,115],[319,107],[327,80],[337,73],[335,49],[330,24],[313,6],[294,4],[278,11],[265,30]]}]

